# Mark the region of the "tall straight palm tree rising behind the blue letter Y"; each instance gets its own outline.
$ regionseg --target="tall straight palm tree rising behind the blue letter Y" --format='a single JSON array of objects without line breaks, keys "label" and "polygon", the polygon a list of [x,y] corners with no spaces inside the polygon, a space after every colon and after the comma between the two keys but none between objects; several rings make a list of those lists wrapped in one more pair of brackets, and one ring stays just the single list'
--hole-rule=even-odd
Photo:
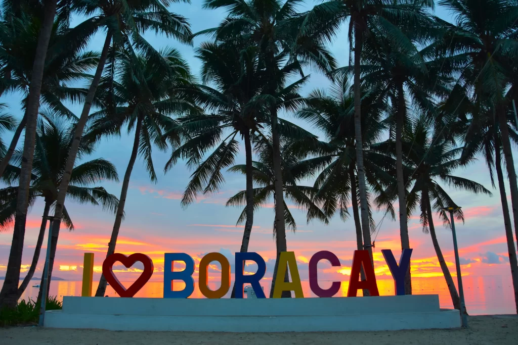
[{"label": "tall straight palm tree rising behind the blue letter Y", "polygon": [[[433,29],[430,23],[430,30]],[[411,32],[406,34],[416,44],[420,43],[419,36],[414,39]],[[444,67],[442,59],[435,59],[435,42],[418,51],[414,45],[397,47],[390,41],[377,37],[366,42],[363,53],[364,85],[379,89],[379,98],[392,104],[392,109],[387,114],[391,121],[389,135],[396,144],[399,233],[401,249],[409,249],[407,182],[403,174],[402,132],[413,116],[423,114],[430,119],[438,116],[432,97],[446,97],[449,94],[450,78],[441,73]],[[347,67],[343,68],[343,71],[350,74],[352,72],[351,68]],[[411,294],[411,292],[409,266],[405,276],[405,293]]]}]

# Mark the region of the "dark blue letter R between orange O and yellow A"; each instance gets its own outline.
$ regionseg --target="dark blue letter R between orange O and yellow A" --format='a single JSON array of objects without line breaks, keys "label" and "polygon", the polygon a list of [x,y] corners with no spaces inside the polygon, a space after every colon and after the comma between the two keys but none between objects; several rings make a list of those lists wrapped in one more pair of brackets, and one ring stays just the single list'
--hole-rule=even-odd
[{"label": "dark blue letter R between orange O and yellow A", "polygon": [[[257,264],[257,272],[252,275],[243,275],[244,260],[255,261]],[[259,281],[266,273],[266,263],[264,259],[255,252],[236,253],[236,281],[234,287],[236,289],[236,298],[243,298],[243,284],[249,283],[254,289],[257,298],[266,298]]]}]

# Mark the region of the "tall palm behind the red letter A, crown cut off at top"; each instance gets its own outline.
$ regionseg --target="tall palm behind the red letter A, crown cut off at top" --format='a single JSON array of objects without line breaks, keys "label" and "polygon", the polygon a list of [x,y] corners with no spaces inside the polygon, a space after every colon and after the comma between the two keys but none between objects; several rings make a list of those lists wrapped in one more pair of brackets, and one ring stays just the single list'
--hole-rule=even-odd
[{"label": "tall palm behind the red letter A, crown cut off at top", "polygon": [[[409,28],[415,38],[424,39],[429,36],[426,28],[430,19],[427,8],[433,2],[423,1],[385,1],[385,0],[331,0],[315,6],[301,17],[301,32],[314,31],[320,27],[322,39],[330,40],[340,29],[341,23],[349,19],[348,39],[349,51],[354,51],[354,126],[356,141],[356,169],[358,174],[359,201],[361,206],[363,248],[369,251],[372,265],[372,244],[370,237],[368,197],[362,140],[362,97],[361,97],[361,62],[366,40],[385,39],[397,49],[415,50],[413,42],[406,36]],[[354,42],[354,48],[353,48]],[[351,58],[350,58],[351,61]],[[402,183],[402,179],[399,179]],[[404,202],[404,198],[400,202]],[[404,211],[402,211],[404,212]],[[407,248],[408,229],[406,221],[401,222],[401,246]],[[411,293],[410,278],[406,279],[406,293]]]}]

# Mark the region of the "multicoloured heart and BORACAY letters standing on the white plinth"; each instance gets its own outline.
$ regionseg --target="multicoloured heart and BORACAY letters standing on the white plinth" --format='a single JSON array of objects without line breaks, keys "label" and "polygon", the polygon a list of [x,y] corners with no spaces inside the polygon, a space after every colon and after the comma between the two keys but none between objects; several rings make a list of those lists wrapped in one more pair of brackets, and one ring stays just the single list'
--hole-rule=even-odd
[{"label": "multicoloured heart and BORACAY letters standing on the white plinth", "polygon": [[[405,294],[405,275],[410,265],[410,256],[412,249],[404,249],[401,252],[399,264],[390,249],[381,250],[387,265],[389,266],[392,277],[394,278],[396,295]],[[86,257],[85,257],[86,258]],[[341,282],[335,281],[329,289],[322,289],[318,283],[318,269],[319,261],[327,260],[332,266],[340,266],[338,257],[327,250],[319,251],[309,260],[309,286],[311,291],[319,297],[333,297],[339,290]],[[121,262],[127,268],[133,266],[136,262],[141,262],[144,269],[140,277],[126,289],[113,273],[113,264]],[[174,262],[183,262],[185,269],[183,271],[173,271]],[[218,290],[210,290],[208,287],[208,267],[211,262],[217,261],[221,265],[221,286]],[[243,272],[244,262],[253,261],[257,264],[257,272],[252,275],[245,275]],[[86,262],[86,260],[85,260]],[[92,256],[93,264],[93,256]],[[239,252],[236,253],[236,274],[235,287],[236,298],[243,298],[243,284],[250,284],[257,296],[257,298],[266,298],[259,281],[266,273],[266,263],[264,259],[256,252]],[[241,267],[241,269],[239,269]],[[363,267],[365,279],[360,279],[360,271]],[[164,298],[187,298],[194,292],[194,260],[186,253],[165,253],[164,254]],[[286,269],[289,268],[291,280],[285,282],[284,276]],[[84,266],[85,273],[87,273],[87,266]],[[134,253],[126,256],[121,253],[111,254],[103,262],[103,274],[110,284],[110,286],[121,297],[133,297],[151,278],[153,274],[153,261],[146,254]],[[88,274],[88,273],[87,273]],[[91,277],[91,273],[90,273]],[[91,278],[90,278],[91,279]],[[180,291],[173,290],[173,281],[182,280],[185,283],[185,288]],[[84,279],[83,279],[84,284]],[[199,262],[199,279],[198,286],[200,292],[207,298],[221,298],[231,287],[231,269],[228,260],[223,254],[212,252],[206,254]],[[347,291],[348,297],[356,296],[357,291],[366,289],[371,296],[379,296],[378,286],[376,284],[376,276],[371,264],[369,252],[367,250],[355,250],[353,254],[353,263],[351,267],[351,275],[349,276],[349,289]],[[279,257],[279,268],[277,270],[276,283],[274,287],[274,298],[280,298],[283,291],[294,291],[295,297],[304,297],[302,286],[300,283],[300,276],[298,273],[297,262],[295,260],[295,253],[293,251],[281,252]]]}]

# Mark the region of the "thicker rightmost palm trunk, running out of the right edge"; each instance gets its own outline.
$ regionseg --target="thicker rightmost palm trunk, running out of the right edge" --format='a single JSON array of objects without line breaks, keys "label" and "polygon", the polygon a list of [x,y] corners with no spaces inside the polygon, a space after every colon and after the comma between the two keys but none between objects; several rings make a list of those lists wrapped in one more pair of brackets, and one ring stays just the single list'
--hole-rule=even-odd
[{"label": "thicker rightmost palm trunk, running out of the right edge", "polygon": [[506,158],[507,177],[511,191],[511,207],[513,209],[514,232],[516,245],[518,246],[518,185],[516,184],[516,171],[514,170],[513,153],[509,141],[509,128],[505,108],[498,107],[498,122],[500,125],[500,139],[502,141],[503,156]]}]

